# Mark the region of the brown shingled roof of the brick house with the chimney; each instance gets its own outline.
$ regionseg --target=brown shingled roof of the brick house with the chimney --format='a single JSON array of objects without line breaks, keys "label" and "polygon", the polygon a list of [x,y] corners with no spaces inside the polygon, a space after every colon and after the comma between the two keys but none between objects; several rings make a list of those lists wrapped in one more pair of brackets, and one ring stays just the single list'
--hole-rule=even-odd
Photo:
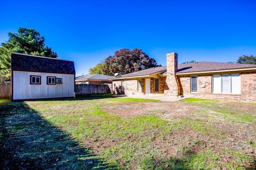
[{"label": "brown shingled roof of the brick house with the chimney", "polygon": [[[179,64],[177,73],[190,73],[190,72],[203,72],[203,71],[218,71],[218,70],[233,70],[233,69],[252,69],[255,68],[256,64],[236,64],[236,63],[219,63],[219,62],[196,62],[196,63],[187,63]],[[149,74],[162,72],[166,74],[166,66],[153,67],[146,70],[141,70],[125,75],[121,75],[118,78],[129,78],[129,77],[138,77],[138,76],[147,76]]]}]

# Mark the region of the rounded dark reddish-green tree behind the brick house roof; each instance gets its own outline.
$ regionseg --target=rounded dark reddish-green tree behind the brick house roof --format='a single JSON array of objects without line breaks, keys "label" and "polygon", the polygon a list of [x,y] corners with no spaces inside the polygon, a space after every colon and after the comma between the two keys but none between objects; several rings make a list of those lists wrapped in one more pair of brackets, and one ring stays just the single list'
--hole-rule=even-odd
[{"label": "rounded dark reddish-green tree behind the brick house roof", "polygon": [[158,65],[154,58],[149,57],[141,49],[123,48],[116,51],[114,56],[105,59],[102,72],[106,75],[128,74],[155,66]]}]

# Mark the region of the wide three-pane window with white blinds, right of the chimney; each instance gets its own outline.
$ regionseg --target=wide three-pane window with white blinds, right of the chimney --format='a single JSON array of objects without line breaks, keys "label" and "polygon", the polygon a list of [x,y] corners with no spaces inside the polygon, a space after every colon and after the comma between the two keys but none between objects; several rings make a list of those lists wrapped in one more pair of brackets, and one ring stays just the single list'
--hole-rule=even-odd
[{"label": "wide three-pane window with white blinds, right of the chimney", "polygon": [[241,94],[241,79],[239,74],[213,75],[213,94]]}]

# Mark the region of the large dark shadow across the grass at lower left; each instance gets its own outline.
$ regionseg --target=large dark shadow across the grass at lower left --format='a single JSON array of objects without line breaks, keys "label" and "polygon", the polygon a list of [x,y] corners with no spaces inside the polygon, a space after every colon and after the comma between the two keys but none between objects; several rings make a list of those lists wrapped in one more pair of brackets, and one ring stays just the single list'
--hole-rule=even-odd
[{"label": "large dark shadow across the grass at lower left", "polygon": [[116,169],[23,102],[0,105],[0,169]]}]

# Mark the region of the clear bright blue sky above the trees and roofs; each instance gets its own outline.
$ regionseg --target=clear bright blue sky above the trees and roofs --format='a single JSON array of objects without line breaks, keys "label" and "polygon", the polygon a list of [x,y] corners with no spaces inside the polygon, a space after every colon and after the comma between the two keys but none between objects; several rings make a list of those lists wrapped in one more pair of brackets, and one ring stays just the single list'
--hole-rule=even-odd
[{"label": "clear bright blue sky above the trees and roofs", "polygon": [[236,61],[256,55],[256,2],[0,1],[0,42],[34,28],[77,75],[121,48],[141,48],[158,64],[166,53],[184,61]]}]

